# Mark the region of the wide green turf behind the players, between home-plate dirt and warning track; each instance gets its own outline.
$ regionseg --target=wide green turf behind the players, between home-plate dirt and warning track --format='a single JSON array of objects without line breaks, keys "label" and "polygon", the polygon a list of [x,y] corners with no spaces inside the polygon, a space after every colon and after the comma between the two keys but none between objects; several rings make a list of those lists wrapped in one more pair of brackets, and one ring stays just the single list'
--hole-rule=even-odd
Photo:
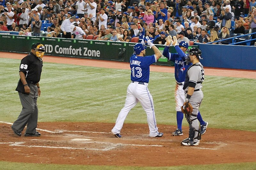
[{"label": "wide green turf behind the players, between home-plate dirt and warning track", "polygon": [[[1,121],[13,122],[21,105],[15,91],[20,60],[0,59]],[[130,70],[44,63],[38,99],[39,122],[115,122],[124,106]],[[151,72],[149,90],[158,124],[176,124],[174,75]],[[255,79],[205,76],[200,112],[212,128],[256,131]],[[126,123],[147,123],[137,104]]]}]

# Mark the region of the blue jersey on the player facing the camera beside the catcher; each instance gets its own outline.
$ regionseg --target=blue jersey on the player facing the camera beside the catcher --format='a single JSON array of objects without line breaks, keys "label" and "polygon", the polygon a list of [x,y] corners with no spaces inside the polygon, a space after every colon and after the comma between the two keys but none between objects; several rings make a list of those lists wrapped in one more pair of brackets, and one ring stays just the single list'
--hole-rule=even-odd
[{"label": "blue jersey on the player facing the camera beside the catcher", "polygon": [[184,82],[186,78],[186,72],[188,68],[192,65],[192,63],[186,64],[185,54],[179,46],[174,47],[177,53],[169,53],[169,47],[165,46],[163,55],[174,62],[174,74],[175,79],[178,83]]}]

